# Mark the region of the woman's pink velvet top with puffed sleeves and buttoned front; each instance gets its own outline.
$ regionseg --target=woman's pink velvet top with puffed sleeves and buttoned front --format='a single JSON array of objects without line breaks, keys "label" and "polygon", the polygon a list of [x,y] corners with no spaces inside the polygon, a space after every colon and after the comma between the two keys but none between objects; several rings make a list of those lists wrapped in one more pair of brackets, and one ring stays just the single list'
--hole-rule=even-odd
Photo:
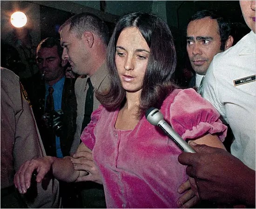
[{"label": "woman's pink velvet top with puffed sleeves and buttoned front", "polygon": [[[145,116],[134,130],[115,129],[118,111],[100,106],[81,135],[101,170],[107,207],[176,208],[177,189],[188,178],[177,160],[181,150]],[[226,136],[219,113],[193,89],[176,89],[160,111],[184,140]]]}]

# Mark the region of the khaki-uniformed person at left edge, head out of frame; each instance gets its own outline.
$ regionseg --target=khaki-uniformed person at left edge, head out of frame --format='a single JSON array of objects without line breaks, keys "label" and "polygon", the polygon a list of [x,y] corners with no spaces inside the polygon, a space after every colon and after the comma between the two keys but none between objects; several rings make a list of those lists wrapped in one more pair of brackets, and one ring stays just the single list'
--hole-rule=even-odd
[{"label": "khaki-uniformed person at left edge, head out of frame", "polygon": [[27,93],[19,77],[2,68],[1,77],[1,208],[59,208],[59,182],[45,179],[20,196],[15,171],[27,160],[46,156]]}]

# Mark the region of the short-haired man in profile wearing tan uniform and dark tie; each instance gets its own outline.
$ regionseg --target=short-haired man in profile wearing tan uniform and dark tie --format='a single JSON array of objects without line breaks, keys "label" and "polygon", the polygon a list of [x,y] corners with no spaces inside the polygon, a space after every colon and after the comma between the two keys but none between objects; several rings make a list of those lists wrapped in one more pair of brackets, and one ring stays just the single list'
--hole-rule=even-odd
[{"label": "short-haired man in profile wearing tan uniform and dark tie", "polygon": [[[77,101],[77,118],[74,141],[70,155],[76,152],[81,142],[81,131],[86,127],[85,121],[90,121],[90,115],[85,110],[96,110],[100,102],[95,97],[95,91],[102,91],[108,87],[109,77],[106,65],[108,45],[108,26],[100,18],[91,13],[79,13],[63,23],[59,29],[62,59],[67,59],[72,71],[79,77],[74,84]],[[86,103],[89,83],[93,87],[93,105]],[[87,162],[86,160],[84,162]],[[101,184],[94,182],[79,183],[83,208],[105,208],[104,189]],[[80,190],[79,189],[79,190]]]}]

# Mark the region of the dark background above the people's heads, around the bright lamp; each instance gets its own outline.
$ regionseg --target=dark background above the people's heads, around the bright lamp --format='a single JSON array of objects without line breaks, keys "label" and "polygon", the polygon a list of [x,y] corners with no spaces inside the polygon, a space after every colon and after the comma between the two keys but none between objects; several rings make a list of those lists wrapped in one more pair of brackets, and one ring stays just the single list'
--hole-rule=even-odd
[{"label": "dark background above the people's heads, around the bright lamp", "polygon": [[[115,22],[126,13],[148,12],[155,13],[164,19],[171,29],[175,40],[175,47],[178,56],[178,68],[182,68],[186,63],[186,28],[188,20],[192,14],[198,10],[216,10],[222,16],[228,18],[233,25],[239,24],[239,28],[234,27],[233,36],[235,42],[244,34],[249,33],[249,28],[245,25],[239,1],[0,1],[1,10],[1,59],[6,49],[2,48],[3,43],[15,47],[17,33],[23,34],[27,39],[31,39],[32,50],[41,39],[55,37],[59,39],[59,26],[75,13],[90,12],[103,19],[110,28],[110,32],[115,27]],[[16,10],[27,14],[28,23],[24,28],[16,29],[10,24],[10,15]],[[22,41],[22,40],[21,40]],[[30,60],[34,59],[31,55]],[[36,70],[34,69],[34,72]],[[32,72],[32,73],[31,73]],[[20,77],[30,77],[33,70],[20,73]]]}]

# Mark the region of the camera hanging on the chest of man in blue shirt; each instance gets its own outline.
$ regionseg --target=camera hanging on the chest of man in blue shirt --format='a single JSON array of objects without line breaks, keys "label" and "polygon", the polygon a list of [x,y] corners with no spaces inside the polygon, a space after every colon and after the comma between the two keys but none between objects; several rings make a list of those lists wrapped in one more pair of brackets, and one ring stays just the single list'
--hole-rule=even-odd
[{"label": "camera hanging on the chest of man in blue shirt", "polygon": [[56,136],[60,136],[63,130],[62,122],[63,111],[51,111],[43,115],[43,120],[48,128],[52,128]]}]

